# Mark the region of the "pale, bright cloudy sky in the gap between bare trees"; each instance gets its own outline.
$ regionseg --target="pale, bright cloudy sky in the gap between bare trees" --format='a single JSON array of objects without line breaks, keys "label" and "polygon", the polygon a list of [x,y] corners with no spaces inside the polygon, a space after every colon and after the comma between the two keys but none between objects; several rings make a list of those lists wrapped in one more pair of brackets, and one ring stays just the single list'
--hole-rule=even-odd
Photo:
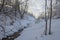
[{"label": "pale, bright cloudy sky in the gap between bare trees", "polygon": [[29,0],[29,11],[40,13],[44,9],[44,0]]}]

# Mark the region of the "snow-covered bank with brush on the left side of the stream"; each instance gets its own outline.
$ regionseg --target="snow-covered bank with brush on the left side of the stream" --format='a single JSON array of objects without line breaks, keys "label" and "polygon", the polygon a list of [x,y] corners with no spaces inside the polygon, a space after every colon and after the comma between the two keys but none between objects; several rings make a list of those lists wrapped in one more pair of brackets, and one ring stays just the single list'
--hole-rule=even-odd
[{"label": "snow-covered bank with brush on the left side of the stream", "polygon": [[[8,35],[12,35],[14,32],[17,32],[20,29],[23,29],[24,27],[29,27],[29,24],[31,24],[33,21],[35,21],[35,19],[28,15],[25,15],[24,19],[16,18],[15,20],[13,18],[12,20],[9,16],[6,16],[5,14],[1,14],[0,15],[0,39],[4,37],[4,30],[5,30],[5,37],[6,37]],[[11,24],[11,22],[13,23]],[[4,30],[2,29],[2,27],[4,28]]]}]

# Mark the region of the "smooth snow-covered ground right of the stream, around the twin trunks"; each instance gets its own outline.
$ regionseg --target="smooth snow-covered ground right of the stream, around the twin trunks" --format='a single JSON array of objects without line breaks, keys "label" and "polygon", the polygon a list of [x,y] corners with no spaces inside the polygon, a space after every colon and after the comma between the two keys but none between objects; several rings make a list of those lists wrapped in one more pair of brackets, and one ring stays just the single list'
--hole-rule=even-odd
[{"label": "smooth snow-covered ground right of the stream, around the twin trunks", "polygon": [[[49,22],[48,22],[49,23]],[[52,19],[52,34],[44,35],[45,22],[31,24],[15,40],[60,40],[60,19]]]}]

